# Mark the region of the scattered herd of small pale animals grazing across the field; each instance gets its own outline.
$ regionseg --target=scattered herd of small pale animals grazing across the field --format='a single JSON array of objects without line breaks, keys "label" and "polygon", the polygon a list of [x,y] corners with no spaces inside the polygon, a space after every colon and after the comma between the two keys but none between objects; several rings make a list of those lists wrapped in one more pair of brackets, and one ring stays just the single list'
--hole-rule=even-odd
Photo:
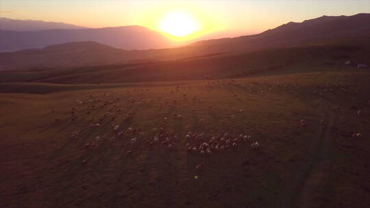
[{"label": "scattered herd of small pale animals grazing across the field", "polygon": [[[266,83],[263,83],[266,84]],[[208,81],[204,85],[206,92],[210,92],[216,88],[244,88],[249,93],[263,94],[263,88],[259,88],[259,83],[252,81],[249,84],[238,83],[231,79],[230,81]],[[271,92],[274,88],[288,88],[293,87],[300,88],[299,83],[279,83],[273,82],[268,86],[268,92]],[[106,140],[114,141],[121,139],[127,142],[128,150],[127,154],[132,154],[140,148],[146,148],[146,146],[163,146],[162,150],[173,150],[178,148],[185,148],[188,154],[199,154],[199,155],[212,155],[227,153],[237,149],[246,151],[246,148],[256,149],[260,148],[261,144],[258,142],[258,136],[245,134],[244,132],[232,135],[232,133],[210,133],[207,131],[186,131],[190,129],[190,125],[205,125],[206,118],[199,117],[196,123],[189,123],[184,125],[182,132],[175,132],[170,130],[168,127],[169,122],[175,122],[174,120],[183,120],[184,116],[176,112],[176,106],[180,103],[189,103],[194,107],[197,105],[205,105],[206,108],[212,110],[214,103],[208,104],[205,99],[201,99],[199,95],[189,96],[192,88],[186,86],[176,86],[175,88],[165,88],[169,91],[169,96],[159,95],[156,99],[145,99],[145,94],[149,94],[149,89],[134,89],[127,90],[126,95],[131,96],[128,99],[123,99],[118,92],[112,91],[110,93],[101,94],[90,94],[88,99],[77,99],[76,104],[71,107],[70,120],[75,122],[76,120],[87,121],[90,127],[93,128],[106,128],[106,123],[109,124],[109,131],[105,131],[102,135],[95,136],[93,140],[86,142],[84,147],[86,149],[95,148],[99,146],[101,142]],[[199,89],[195,89],[199,90]],[[186,92],[184,92],[186,91]],[[319,92],[321,95],[323,92],[333,92],[332,88],[323,89],[322,86],[317,86],[317,90],[314,90],[314,94]],[[345,92],[345,90],[341,90]],[[168,93],[168,92],[167,92]],[[176,98],[174,94],[180,95]],[[238,94],[233,94],[235,99],[240,99]],[[190,100],[189,100],[190,98]],[[320,103],[320,100],[312,103]],[[128,123],[133,120],[135,116],[140,112],[141,107],[151,107],[153,111],[164,111],[164,109],[170,110],[172,118],[170,116],[164,116],[162,118],[156,118],[156,127],[152,129],[145,129],[145,127],[127,127],[125,122]],[[159,108],[156,108],[159,107]],[[321,109],[318,107],[318,109]],[[56,114],[58,110],[51,109],[53,114]],[[102,113],[103,112],[103,113]],[[193,114],[197,114],[196,109],[192,109]],[[219,120],[222,125],[225,121],[233,122],[236,116],[243,116],[245,113],[244,109],[235,109],[234,112],[238,114],[232,114],[230,116],[224,116],[223,119]],[[362,112],[358,110],[358,115]],[[236,116],[235,116],[236,115]],[[143,115],[140,115],[143,116]],[[86,118],[87,117],[87,118]],[[55,118],[56,122],[60,122],[62,119]],[[323,124],[323,120],[319,121]],[[307,121],[301,119],[298,121],[301,127],[306,127]],[[104,126],[104,127],[103,127]],[[93,130],[91,130],[93,131]],[[184,133],[186,132],[186,133]],[[234,132],[235,134],[235,132]],[[353,137],[360,138],[361,133],[353,133]],[[82,131],[73,131],[71,138],[83,137]],[[238,148],[244,146],[243,148]],[[87,161],[83,161],[86,163]],[[199,169],[204,164],[199,164],[196,168]]]}]

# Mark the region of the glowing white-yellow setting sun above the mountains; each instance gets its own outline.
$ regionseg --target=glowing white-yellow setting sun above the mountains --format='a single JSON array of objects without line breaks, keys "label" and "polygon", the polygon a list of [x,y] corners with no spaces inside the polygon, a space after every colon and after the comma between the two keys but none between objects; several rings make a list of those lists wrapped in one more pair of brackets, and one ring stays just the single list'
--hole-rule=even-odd
[{"label": "glowing white-yellow setting sun above the mountains", "polygon": [[199,25],[186,12],[169,12],[160,21],[159,29],[171,36],[184,37],[199,30]]}]

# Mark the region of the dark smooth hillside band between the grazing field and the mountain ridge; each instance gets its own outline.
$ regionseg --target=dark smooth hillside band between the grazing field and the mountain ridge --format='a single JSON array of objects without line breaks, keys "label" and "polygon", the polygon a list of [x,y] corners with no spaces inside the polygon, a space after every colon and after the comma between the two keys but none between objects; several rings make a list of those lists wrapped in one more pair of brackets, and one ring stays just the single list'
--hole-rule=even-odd
[{"label": "dark smooth hillside band between the grazing field and the mountain ridge", "polygon": [[0,82],[127,83],[221,79],[315,72],[356,70],[344,62],[369,64],[369,40],[351,40],[301,47],[277,48],[251,53],[227,53],[169,62],[0,71]]}]

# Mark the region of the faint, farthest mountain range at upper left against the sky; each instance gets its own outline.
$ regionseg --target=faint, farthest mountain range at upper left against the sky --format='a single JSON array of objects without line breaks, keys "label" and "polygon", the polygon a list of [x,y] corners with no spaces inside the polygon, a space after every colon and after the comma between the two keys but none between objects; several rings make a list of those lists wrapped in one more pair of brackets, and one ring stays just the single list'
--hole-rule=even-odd
[{"label": "faint, farthest mountain range at upper left against the sky", "polygon": [[0,30],[12,31],[37,31],[44,29],[85,29],[66,23],[54,23],[45,21],[17,20],[12,18],[0,17]]}]

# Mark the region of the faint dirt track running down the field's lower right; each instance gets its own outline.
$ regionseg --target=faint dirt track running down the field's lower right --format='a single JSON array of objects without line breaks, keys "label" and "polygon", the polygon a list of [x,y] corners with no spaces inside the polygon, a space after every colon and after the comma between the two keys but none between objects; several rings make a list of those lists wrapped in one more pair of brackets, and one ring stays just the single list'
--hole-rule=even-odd
[{"label": "faint dirt track running down the field's lower right", "polygon": [[277,201],[277,207],[310,207],[312,192],[322,179],[321,170],[323,159],[328,157],[330,146],[330,129],[334,124],[335,115],[330,112],[325,114],[325,122],[312,138],[312,145],[303,164],[295,176],[289,181]]}]

